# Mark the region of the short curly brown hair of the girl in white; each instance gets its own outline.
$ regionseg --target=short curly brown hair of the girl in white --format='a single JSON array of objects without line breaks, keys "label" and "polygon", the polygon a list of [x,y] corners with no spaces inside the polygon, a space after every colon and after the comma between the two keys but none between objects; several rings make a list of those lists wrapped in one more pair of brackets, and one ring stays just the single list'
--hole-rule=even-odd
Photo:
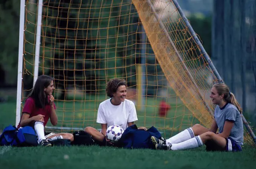
[{"label": "short curly brown hair of the girl in white", "polygon": [[109,97],[113,97],[113,93],[115,93],[117,91],[117,88],[120,85],[125,85],[125,87],[127,87],[126,81],[124,79],[119,79],[119,78],[110,79],[108,81],[107,87],[106,87],[107,95]]}]

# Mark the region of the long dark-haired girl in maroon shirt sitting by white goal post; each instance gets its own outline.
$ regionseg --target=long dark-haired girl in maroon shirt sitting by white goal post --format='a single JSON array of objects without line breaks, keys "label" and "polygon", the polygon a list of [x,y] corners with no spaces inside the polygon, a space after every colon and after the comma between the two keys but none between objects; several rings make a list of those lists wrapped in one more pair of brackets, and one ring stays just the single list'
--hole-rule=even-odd
[{"label": "long dark-haired girl in maroon shirt sitting by white goal post", "polygon": [[50,122],[55,126],[58,117],[55,112],[53,78],[41,75],[35,82],[32,92],[29,94],[21,115],[19,127],[32,126],[38,136],[38,144],[42,146],[51,146],[47,139],[70,139],[73,141],[73,135],[70,133],[45,133],[44,126],[50,118]]}]

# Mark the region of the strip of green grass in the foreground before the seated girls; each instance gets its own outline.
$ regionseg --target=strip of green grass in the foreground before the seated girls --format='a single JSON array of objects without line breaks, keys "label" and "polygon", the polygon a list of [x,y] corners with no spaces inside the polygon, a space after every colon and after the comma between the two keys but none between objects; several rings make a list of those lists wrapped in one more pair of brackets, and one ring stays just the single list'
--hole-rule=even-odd
[{"label": "strip of green grass in the foreground before the seated girls", "polygon": [[[4,150],[3,150],[4,149]],[[111,147],[0,147],[0,168],[253,169],[256,149],[242,152],[126,150]]]}]

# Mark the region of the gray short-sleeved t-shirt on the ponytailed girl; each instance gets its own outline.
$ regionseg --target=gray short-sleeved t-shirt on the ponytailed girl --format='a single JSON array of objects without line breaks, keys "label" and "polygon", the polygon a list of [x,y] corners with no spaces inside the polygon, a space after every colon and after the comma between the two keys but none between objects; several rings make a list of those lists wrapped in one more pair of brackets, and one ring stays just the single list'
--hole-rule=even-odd
[{"label": "gray short-sleeved t-shirt on the ponytailed girl", "polygon": [[214,111],[214,118],[219,128],[219,133],[223,132],[225,121],[233,121],[234,126],[229,138],[232,138],[239,145],[244,143],[244,126],[242,116],[235,105],[226,104],[223,108],[217,105]]}]

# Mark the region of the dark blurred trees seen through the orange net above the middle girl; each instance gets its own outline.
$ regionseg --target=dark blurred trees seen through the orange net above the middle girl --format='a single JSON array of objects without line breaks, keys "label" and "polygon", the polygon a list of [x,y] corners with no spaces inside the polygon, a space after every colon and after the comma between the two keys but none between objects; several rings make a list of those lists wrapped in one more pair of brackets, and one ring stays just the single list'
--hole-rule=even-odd
[{"label": "dark blurred trees seen through the orange net above the middle girl", "polygon": [[40,55],[52,59],[41,64],[52,65],[54,69],[42,71],[55,76],[56,87],[63,91],[61,99],[68,86],[85,86],[87,92],[103,91],[108,79],[122,76],[122,58],[134,57],[135,47],[131,45],[136,34],[129,36],[135,32],[129,25],[133,23],[128,17],[131,1],[112,3],[55,0],[46,4],[52,8],[44,7],[45,36]]}]

